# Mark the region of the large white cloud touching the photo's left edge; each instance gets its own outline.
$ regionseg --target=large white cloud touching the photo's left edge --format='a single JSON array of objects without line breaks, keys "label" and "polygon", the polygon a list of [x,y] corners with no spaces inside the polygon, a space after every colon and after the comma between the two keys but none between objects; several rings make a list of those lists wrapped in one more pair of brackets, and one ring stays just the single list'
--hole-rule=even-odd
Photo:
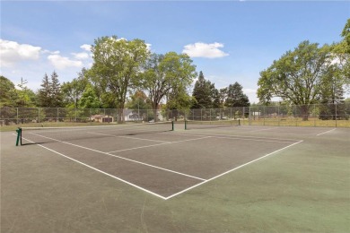
[{"label": "large white cloud touching the photo's left edge", "polygon": [[2,66],[13,66],[24,60],[38,60],[40,51],[41,47],[0,39],[0,61]]}]

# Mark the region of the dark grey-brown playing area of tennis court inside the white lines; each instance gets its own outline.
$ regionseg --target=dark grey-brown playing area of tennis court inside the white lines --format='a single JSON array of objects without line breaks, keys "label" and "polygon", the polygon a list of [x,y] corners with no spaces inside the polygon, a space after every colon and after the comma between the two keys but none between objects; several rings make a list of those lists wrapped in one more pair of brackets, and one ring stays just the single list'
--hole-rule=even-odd
[{"label": "dark grey-brown playing area of tennis court inside the white lines", "polygon": [[[282,132],[276,127],[213,124],[194,127],[199,131],[181,131],[183,125],[177,126],[179,131],[172,131],[170,123],[29,128],[23,129],[22,141],[37,144],[113,177],[116,182],[125,182],[165,200],[302,142],[302,139],[258,136],[261,131]],[[222,134],[211,133],[218,129]],[[289,134],[303,133],[301,128],[293,130],[290,129]],[[324,129],[315,130],[308,134],[325,132]],[[257,136],[243,135],[249,133]]]}]

